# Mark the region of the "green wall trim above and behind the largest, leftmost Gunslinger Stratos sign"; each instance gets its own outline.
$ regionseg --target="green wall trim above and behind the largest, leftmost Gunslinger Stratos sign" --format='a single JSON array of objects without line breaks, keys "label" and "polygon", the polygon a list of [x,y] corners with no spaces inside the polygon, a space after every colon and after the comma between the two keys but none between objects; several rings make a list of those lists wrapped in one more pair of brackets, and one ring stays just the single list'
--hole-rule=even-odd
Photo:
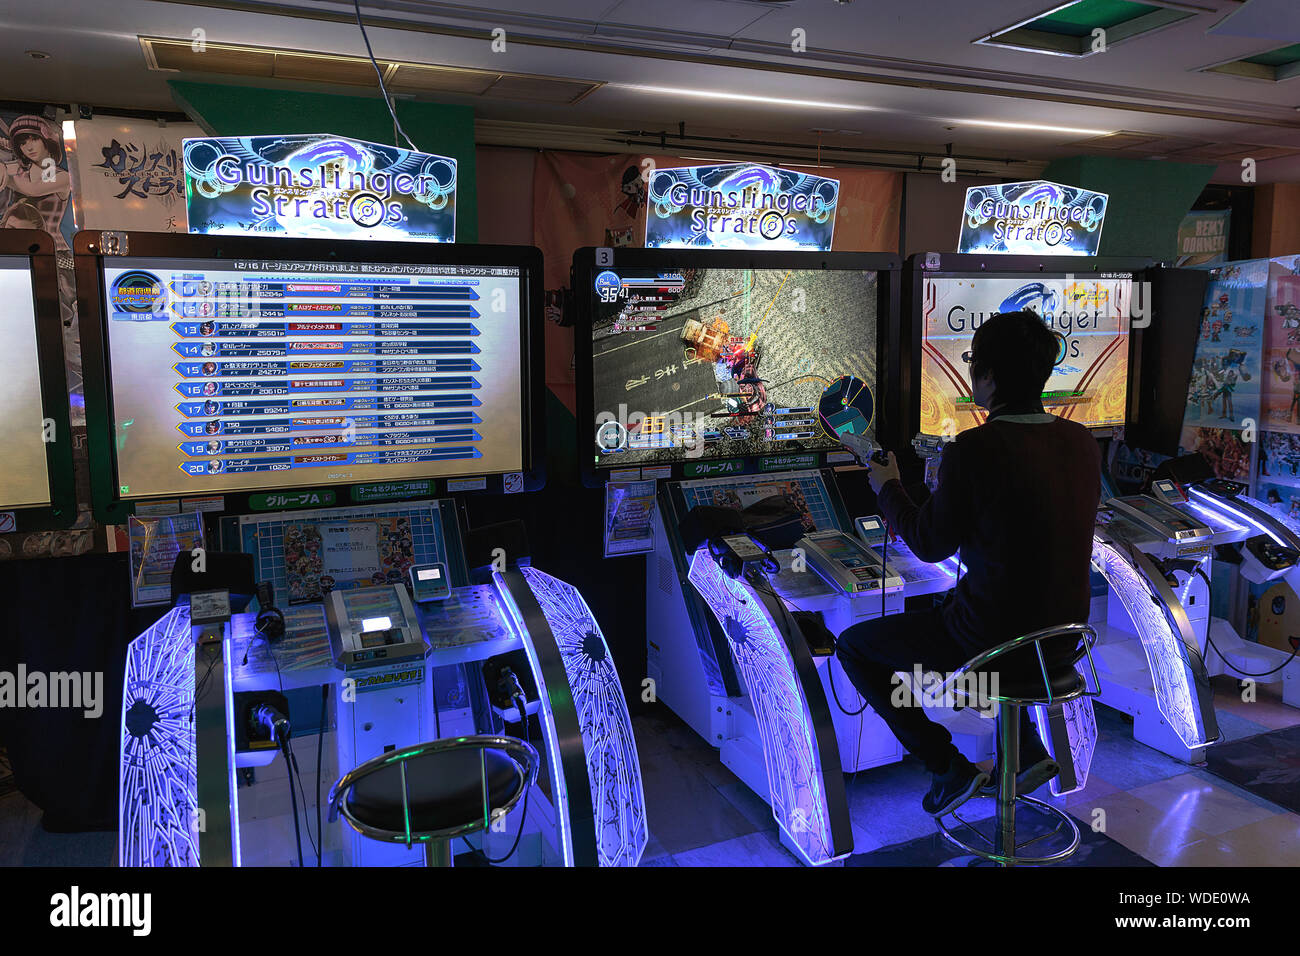
[{"label": "green wall trim above and behind the largest, leftmost Gunslinger Stratos sign", "polygon": [[[372,143],[398,143],[393,117],[378,96],[342,96],[257,86],[168,81],[172,98],[209,135],[337,133]],[[456,160],[456,242],[478,241],[474,111],[398,100],[398,118],[422,152]],[[398,143],[406,146],[406,143]]]}]

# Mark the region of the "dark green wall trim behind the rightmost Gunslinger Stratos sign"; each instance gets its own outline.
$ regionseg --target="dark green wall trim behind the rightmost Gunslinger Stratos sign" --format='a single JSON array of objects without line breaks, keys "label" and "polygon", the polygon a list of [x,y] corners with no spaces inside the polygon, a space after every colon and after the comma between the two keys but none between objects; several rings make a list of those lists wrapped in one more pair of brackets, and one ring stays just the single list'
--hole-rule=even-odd
[{"label": "dark green wall trim behind the rightmost Gunslinger Stratos sign", "polygon": [[1110,196],[1098,255],[1176,259],[1178,226],[1216,168],[1114,156],[1074,156],[1049,163],[1041,178]]}]

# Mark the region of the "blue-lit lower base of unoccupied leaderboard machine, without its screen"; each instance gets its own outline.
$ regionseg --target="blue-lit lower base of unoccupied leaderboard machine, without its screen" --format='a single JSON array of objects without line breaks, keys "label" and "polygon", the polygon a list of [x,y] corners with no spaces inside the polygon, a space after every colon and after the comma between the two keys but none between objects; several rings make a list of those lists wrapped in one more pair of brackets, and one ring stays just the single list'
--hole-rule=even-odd
[{"label": "blue-lit lower base of unoccupied leaderboard machine, without its screen", "polygon": [[[473,705],[474,695],[462,684],[465,674],[477,676],[481,661],[511,650],[525,653],[537,688],[528,695],[528,710],[542,728],[540,740],[533,731],[532,743],[543,767],[510,864],[634,866],[640,861],[647,831],[632,724],[604,636],[577,589],[521,567],[495,574],[490,585],[455,588],[446,601],[416,605],[426,650],[413,669],[407,667],[413,674],[373,682],[373,691],[360,689],[361,680],[343,680],[326,640],[324,611],[315,607],[320,627],[291,631],[274,650],[252,631],[254,615],[231,619],[220,661],[228,676],[225,700],[216,708],[204,706],[205,675],[195,670],[188,605],[172,609],[131,643],[122,700],[120,865],[200,865],[199,829],[207,816],[198,793],[212,791],[199,778],[196,740],[204,739],[205,721],[225,723],[221,737],[233,773],[218,792],[229,792],[233,808],[230,858],[235,865],[296,865],[285,761],[276,750],[237,753],[230,732],[240,719],[235,693],[334,685],[334,726],[325,728],[320,779],[312,774],[315,734],[291,741],[302,767],[303,849],[312,857],[307,865],[315,865],[307,839],[316,816],[312,795],[326,793],[337,777],[373,756],[369,749],[422,743],[438,730],[442,736],[473,734],[476,723],[497,723],[488,708]],[[318,708],[320,693],[308,696]],[[448,706],[448,700],[462,706]],[[306,721],[307,715],[290,717]],[[523,736],[517,723],[506,731]],[[378,735],[386,736],[372,739]],[[521,816],[516,808],[503,825],[471,838],[473,847],[504,857]],[[343,822],[325,823],[325,832],[315,836],[324,838],[325,865],[424,860],[419,844],[411,849],[378,844]],[[460,840],[456,844],[455,851],[465,849]]]}]

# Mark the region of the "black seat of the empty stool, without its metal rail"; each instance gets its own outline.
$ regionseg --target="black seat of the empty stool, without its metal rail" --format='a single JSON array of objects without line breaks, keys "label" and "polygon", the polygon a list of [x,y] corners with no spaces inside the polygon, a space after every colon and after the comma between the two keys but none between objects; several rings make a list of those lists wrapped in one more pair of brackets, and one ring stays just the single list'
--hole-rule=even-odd
[{"label": "black seat of the empty stool, without its metal rail", "polygon": [[[482,763],[478,754],[482,753]],[[402,767],[411,808],[411,831],[450,830],[484,821],[495,808],[512,804],[524,786],[519,765],[504,752],[438,750],[367,774],[344,797],[358,822],[376,830],[403,832],[406,810]],[[484,775],[488,793],[484,806]]]}]

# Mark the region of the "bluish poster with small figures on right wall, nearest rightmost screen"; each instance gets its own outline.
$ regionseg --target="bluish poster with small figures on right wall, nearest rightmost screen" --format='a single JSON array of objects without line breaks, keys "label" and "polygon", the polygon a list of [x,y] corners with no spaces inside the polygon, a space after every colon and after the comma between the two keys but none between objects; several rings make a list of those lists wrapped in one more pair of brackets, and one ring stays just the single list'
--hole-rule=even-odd
[{"label": "bluish poster with small figures on right wall, nearest rightmost screen", "polygon": [[1268,267],[1268,260],[1252,259],[1212,269],[1184,429],[1243,429],[1247,419],[1260,421]]}]

